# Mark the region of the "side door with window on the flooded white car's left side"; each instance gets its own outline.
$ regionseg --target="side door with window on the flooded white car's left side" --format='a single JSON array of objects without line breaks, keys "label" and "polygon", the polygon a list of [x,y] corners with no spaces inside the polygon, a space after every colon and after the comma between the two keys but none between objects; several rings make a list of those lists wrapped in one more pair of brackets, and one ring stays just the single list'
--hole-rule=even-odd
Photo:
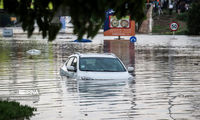
[{"label": "side door with window on the flooded white car's left side", "polygon": [[[76,57],[70,57],[68,62],[66,63],[66,76],[68,78],[74,78],[76,76],[77,71],[77,58]],[[75,70],[69,70],[69,67],[74,67]]]}]

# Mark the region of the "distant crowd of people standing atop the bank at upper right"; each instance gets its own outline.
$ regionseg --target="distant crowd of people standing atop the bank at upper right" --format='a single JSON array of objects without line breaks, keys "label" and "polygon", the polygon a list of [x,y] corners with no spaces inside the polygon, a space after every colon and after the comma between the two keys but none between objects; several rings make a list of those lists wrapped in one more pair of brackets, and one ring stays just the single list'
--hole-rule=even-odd
[{"label": "distant crowd of people standing atop the bank at upper right", "polygon": [[163,9],[168,9],[169,14],[175,10],[176,13],[184,13],[189,10],[190,4],[194,0],[149,0],[148,2],[153,5],[155,13],[163,14]]}]

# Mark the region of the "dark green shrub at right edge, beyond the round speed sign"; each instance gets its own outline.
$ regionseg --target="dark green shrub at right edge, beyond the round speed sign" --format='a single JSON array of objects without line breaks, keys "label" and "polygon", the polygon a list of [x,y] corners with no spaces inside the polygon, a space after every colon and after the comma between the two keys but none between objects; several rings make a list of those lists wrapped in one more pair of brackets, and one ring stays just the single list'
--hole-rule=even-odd
[{"label": "dark green shrub at right edge, beyond the round speed sign", "polygon": [[200,35],[200,1],[192,3],[192,8],[188,12],[187,27],[191,35]]}]

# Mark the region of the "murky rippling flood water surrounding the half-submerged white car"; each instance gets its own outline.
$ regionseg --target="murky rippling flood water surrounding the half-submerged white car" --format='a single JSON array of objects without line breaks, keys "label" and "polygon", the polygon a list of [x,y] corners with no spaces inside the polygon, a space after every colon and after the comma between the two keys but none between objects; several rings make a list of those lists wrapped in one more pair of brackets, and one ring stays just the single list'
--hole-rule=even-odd
[{"label": "murky rippling flood water surrounding the half-submerged white car", "polygon": [[[31,120],[199,120],[200,37],[137,39],[99,46],[0,40],[0,98],[36,107]],[[42,53],[31,57],[30,49]],[[135,67],[134,81],[60,76],[73,52],[113,52]]]}]

